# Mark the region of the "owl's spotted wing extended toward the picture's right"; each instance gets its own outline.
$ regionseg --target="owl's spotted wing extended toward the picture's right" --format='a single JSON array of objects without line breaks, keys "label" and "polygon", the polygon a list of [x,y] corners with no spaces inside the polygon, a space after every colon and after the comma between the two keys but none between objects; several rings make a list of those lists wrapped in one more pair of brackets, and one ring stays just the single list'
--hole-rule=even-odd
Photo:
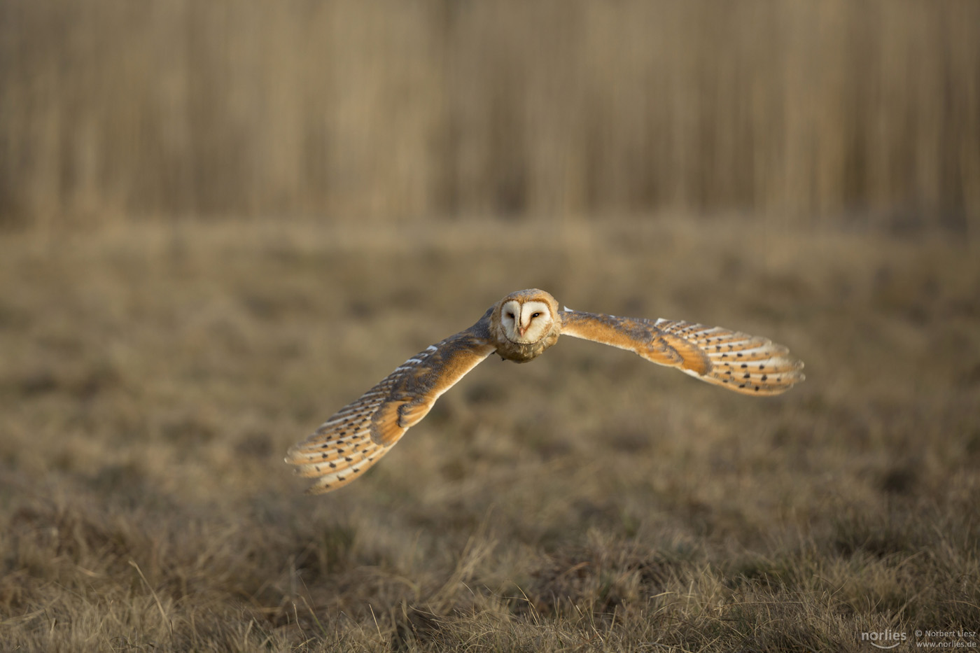
[{"label": "owl's spotted wing extended toward the picture's right", "polygon": [[565,309],[562,334],[628,349],[643,358],[744,394],[779,394],[805,377],[803,361],[771,340],[720,326],[617,318]]}]

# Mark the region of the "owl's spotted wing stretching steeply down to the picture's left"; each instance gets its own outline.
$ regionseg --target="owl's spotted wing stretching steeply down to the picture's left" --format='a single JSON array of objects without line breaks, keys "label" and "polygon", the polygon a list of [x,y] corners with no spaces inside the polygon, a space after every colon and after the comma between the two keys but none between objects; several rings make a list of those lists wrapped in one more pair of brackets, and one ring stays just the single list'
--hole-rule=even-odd
[{"label": "owl's spotted wing stretching steeply down to the picture's left", "polygon": [[496,350],[489,322],[487,311],[465,331],[430,345],[293,445],[286,462],[298,466],[302,477],[318,477],[307,493],[346,485],[386,454],[439,395]]}]

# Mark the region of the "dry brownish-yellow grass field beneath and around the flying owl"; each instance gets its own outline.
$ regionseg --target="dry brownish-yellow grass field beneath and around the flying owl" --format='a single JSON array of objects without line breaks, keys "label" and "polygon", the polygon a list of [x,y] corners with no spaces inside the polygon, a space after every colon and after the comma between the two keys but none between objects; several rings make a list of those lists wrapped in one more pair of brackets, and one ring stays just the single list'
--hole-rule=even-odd
[{"label": "dry brownish-yellow grass field beneath and around the flying owl", "polygon": [[[980,257],[949,236],[120,224],[2,233],[0,278],[3,650],[980,630]],[[302,494],[290,444],[530,286],[769,336],[808,379],[757,400],[562,340],[488,360],[366,477]]]}]

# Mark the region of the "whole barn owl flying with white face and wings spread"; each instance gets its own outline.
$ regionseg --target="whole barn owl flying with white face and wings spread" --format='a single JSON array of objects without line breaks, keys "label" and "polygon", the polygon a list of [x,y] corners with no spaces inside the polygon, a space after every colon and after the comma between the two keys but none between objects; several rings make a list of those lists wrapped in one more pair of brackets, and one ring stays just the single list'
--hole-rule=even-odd
[{"label": "whole barn owl flying with white face and wings spread", "polygon": [[475,325],[395,368],[290,448],[285,460],[297,466],[300,476],[317,478],[308,493],[342,487],[386,454],[477,363],[494,353],[527,363],[563,334],[627,349],[743,394],[779,394],[804,379],[803,362],[766,338],[690,322],[559,310],[544,290],[518,290],[491,306]]}]

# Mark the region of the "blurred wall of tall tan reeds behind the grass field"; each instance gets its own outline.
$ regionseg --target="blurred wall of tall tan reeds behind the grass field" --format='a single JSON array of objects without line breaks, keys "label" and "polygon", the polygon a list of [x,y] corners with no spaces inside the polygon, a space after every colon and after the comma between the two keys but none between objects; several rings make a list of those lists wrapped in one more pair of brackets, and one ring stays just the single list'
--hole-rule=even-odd
[{"label": "blurred wall of tall tan reeds behind the grass field", "polygon": [[0,1],[0,224],[980,231],[975,0]]}]

